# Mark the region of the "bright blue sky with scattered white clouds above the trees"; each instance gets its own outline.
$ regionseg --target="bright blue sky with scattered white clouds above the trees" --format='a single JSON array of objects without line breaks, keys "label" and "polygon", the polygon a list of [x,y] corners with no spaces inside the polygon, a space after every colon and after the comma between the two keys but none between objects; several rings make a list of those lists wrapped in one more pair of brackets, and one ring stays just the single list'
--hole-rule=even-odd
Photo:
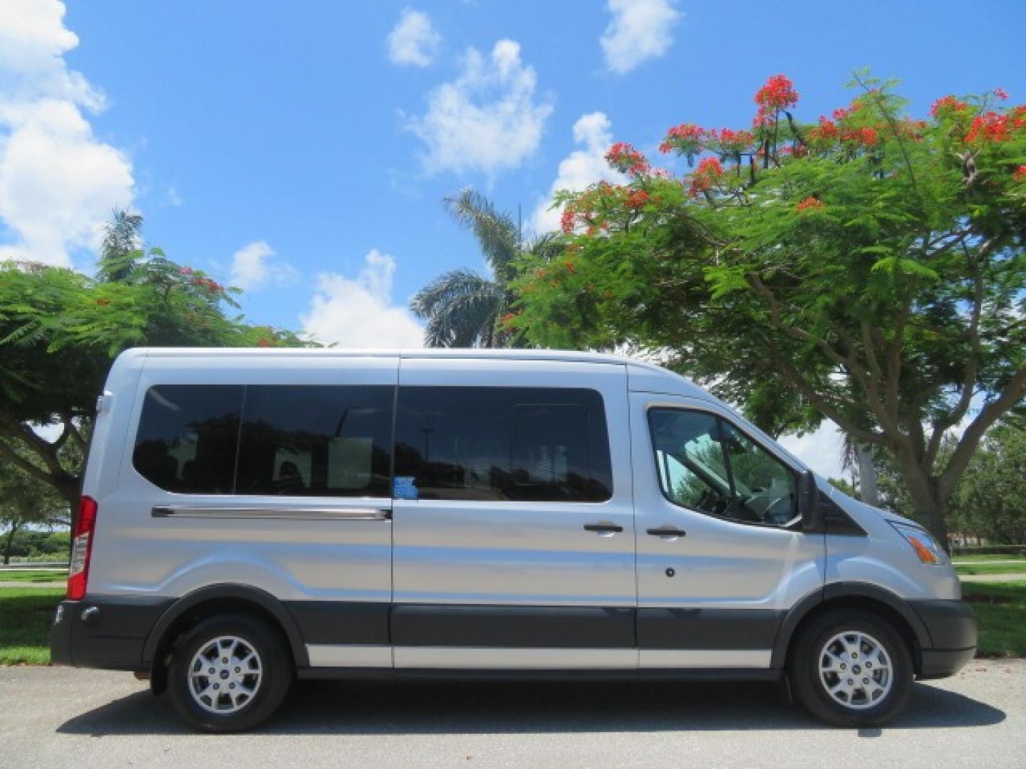
[{"label": "bright blue sky with scattered white clouds above the trees", "polygon": [[920,114],[1026,99],[1023,0],[3,5],[0,257],[91,270],[130,205],[171,258],[249,286],[253,322],[349,346],[412,343],[409,296],[483,267],[444,195],[551,226],[553,185],[608,173],[608,143],[746,127],[770,75],[811,120],[865,66]]}]

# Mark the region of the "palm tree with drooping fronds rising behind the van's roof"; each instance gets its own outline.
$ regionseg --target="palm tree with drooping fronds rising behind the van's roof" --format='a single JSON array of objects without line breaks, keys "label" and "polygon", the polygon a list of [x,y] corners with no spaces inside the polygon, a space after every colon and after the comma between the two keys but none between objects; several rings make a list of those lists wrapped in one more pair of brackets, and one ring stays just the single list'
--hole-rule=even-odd
[{"label": "palm tree with drooping fronds rising behind the van's roof", "polygon": [[523,340],[500,325],[516,298],[510,288],[516,277],[515,260],[524,251],[552,258],[562,248],[558,238],[543,235],[525,244],[513,217],[473,190],[451,195],[444,204],[452,218],[474,234],[492,277],[460,268],[418,291],[409,309],[427,322],[424,343],[430,348],[520,347]]}]

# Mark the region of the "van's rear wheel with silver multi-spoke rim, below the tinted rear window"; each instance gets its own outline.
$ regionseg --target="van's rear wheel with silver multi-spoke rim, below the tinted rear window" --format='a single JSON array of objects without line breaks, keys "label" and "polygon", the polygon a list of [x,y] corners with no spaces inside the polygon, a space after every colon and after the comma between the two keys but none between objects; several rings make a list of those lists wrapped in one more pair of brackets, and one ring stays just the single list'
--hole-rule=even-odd
[{"label": "van's rear wheel with silver multi-spoke rim, below the tinted rear window", "polygon": [[171,655],[168,694],[195,729],[251,729],[277,710],[292,680],[279,635],[248,614],[220,614],[199,622]]}]

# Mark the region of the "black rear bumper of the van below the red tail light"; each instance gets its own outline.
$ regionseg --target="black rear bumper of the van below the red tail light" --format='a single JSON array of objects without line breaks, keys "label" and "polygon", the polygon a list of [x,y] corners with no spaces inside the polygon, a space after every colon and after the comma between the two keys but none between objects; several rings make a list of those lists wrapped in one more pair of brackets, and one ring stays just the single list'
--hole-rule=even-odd
[{"label": "black rear bumper of the van below the red tail light", "polygon": [[53,664],[145,671],[146,638],[166,607],[164,601],[140,599],[62,601],[50,628]]}]

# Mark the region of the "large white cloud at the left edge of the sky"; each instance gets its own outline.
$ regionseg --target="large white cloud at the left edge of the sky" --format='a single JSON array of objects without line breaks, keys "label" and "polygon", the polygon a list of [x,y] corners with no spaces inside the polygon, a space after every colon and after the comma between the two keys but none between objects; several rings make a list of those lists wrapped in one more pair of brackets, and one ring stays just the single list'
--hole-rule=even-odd
[{"label": "large white cloud at the left edge of the sky", "polygon": [[68,69],[78,38],[56,0],[6,0],[0,13],[0,259],[68,266],[94,249],[112,208],[134,194],[131,163],[83,111],[103,95]]}]

